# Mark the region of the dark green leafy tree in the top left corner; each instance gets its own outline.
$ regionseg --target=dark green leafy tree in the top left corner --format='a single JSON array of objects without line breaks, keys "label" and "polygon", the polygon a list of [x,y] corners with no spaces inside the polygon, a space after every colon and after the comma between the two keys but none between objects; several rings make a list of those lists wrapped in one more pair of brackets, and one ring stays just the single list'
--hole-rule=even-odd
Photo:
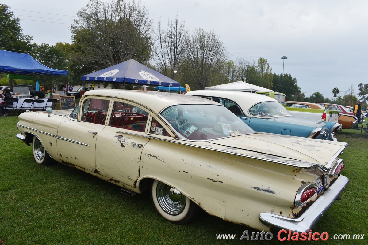
[{"label": "dark green leafy tree in the top left corner", "polygon": [[8,51],[31,51],[33,37],[24,35],[20,20],[14,17],[10,7],[0,4],[0,48]]}]

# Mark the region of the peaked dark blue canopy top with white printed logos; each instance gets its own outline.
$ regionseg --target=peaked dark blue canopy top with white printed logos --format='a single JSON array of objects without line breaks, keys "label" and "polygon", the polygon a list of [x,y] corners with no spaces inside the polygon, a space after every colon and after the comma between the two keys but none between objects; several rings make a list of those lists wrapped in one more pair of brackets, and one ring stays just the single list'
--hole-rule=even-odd
[{"label": "peaked dark blue canopy top with white printed logos", "polygon": [[81,77],[81,81],[180,87],[177,81],[142,65],[134,59],[84,75]]}]

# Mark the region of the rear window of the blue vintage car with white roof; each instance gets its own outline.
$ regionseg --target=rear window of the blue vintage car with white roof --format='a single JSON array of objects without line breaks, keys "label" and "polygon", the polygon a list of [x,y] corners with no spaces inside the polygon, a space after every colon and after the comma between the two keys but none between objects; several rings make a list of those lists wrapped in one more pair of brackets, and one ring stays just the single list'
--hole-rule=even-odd
[{"label": "rear window of the blue vintage car with white roof", "polygon": [[249,113],[256,116],[285,116],[290,115],[283,105],[276,101],[261,102],[249,109]]}]

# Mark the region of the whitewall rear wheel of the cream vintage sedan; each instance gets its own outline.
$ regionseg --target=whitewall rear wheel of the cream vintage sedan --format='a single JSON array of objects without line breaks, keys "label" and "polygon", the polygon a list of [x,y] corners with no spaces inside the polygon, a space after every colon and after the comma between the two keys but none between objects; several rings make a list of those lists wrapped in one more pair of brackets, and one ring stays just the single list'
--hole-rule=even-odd
[{"label": "whitewall rear wheel of the cream vintage sedan", "polygon": [[158,180],[152,182],[151,197],[159,214],[175,224],[191,222],[198,213],[198,206],[188,197]]}]

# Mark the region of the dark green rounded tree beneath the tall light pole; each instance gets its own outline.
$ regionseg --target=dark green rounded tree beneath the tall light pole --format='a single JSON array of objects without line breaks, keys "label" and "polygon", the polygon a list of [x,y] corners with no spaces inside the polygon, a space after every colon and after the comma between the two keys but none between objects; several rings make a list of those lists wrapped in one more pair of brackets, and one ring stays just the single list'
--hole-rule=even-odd
[{"label": "dark green rounded tree beneath the tall light pole", "polygon": [[272,77],[272,90],[275,92],[284,93],[287,100],[292,100],[294,95],[300,89],[297,85],[297,78],[292,77],[291,74],[273,74]]}]

